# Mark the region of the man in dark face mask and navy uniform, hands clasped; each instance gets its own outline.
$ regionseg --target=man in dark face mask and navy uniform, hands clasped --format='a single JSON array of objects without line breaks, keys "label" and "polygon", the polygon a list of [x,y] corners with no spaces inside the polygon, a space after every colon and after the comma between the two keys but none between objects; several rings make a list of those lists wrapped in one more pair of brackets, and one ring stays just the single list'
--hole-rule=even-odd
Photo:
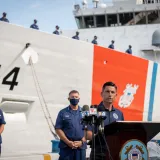
[{"label": "man in dark face mask and navy uniform, hands clasped", "polygon": [[81,108],[78,105],[79,92],[72,90],[68,100],[70,105],[62,109],[56,120],[56,133],[60,137],[59,160],[85,160],[86,140],[83,125],[81,124]]}]

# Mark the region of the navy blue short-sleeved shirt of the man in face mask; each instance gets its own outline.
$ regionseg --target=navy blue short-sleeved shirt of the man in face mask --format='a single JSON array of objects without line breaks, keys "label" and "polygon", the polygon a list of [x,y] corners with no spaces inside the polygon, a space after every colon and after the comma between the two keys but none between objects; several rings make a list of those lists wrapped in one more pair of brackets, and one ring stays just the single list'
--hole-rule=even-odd
[{"label": "navy blue short-sleeved shirt of the man in face mask", "polygon": [[[84,137],[84,126],[81,124],[81,120],[81,108],[78,107],[78,110],[72,110],[68,106],[59,112],[55,128],[61,129],[69,140],[80,141]],[[60,140],[59,147],[65,148],[68,146]],[[81,149],[86,149],[85,143]]]}]

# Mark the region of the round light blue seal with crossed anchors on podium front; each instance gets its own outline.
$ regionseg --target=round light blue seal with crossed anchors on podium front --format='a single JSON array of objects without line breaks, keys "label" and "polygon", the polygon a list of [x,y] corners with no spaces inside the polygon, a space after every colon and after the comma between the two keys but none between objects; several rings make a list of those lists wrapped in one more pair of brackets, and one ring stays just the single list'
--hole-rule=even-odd
[{"label": "round light blue seal with crossed anchors on podium front", "polygon": [[137,139],[129,140],[121,148],[120,160],[148,160],[147,147]]}]

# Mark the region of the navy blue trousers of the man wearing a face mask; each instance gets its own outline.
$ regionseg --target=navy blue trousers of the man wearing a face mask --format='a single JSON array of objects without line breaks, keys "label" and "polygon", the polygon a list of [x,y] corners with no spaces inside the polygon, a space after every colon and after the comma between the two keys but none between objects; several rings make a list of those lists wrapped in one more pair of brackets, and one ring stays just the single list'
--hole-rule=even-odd
[{"label": "navy blue trousers of the man wearing a face mask", "polygon": [[59,160],[86,160],[85,149],[60,148]]}]

